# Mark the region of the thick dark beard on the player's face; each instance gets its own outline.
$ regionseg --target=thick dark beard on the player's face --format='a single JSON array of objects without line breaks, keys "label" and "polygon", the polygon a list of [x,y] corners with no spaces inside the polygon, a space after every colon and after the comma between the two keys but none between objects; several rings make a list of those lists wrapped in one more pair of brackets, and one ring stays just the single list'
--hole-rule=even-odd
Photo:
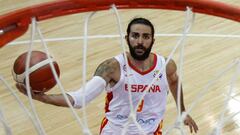
[{"label": "thick dark beard on the player's face", "polygon": [[[145,59],[147,59],[149,57],[149,54],[151,53],[152,50],[152,46],[153,46],[153,42],[151,43],[149,48],[144,47],[143,45],[137,45],[135,47],[132,47],[130,45],[129,40],[127,40],[128,43],[128,47],[129,47],[129,51],[131,56],[138,61],[144,61]],[[136,49],[142,49],[144,51],[143,54],[139,55],[136,53]]]}]

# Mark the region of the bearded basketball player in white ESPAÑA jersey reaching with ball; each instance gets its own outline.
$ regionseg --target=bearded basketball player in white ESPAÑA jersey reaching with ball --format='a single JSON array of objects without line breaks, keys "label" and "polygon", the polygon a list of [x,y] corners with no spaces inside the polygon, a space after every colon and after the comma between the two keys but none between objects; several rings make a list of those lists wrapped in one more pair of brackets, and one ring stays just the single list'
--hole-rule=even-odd
[{"label": "bearded basketball player in white ESPA\u00d1A jersey reaching with ball", "polygon": [[[150,89],[147,89],[166,63],[166,58],[151,53],[155,40],[154,27],[147,19],[135,18],[128,24],[125,38],[129,46],[127,62],[130,68],[127,69],[123,54],[108,59],[98,66],[93,78],[87,82],[85,93],[82,92],[82,89],[79,89],[68,92],[68,97],[75,108],[81,108],[83,96],[85,96],[85,102],[89,103],[106,89],[106,112],[101,124],[100,134],[120,135],[123,125],[128,121],[131,113],[130,91],[132,104],[136,109],[135,119],[138,124],[147,135],[161,135],[168,89],[170,89],[175,102],[177,101],[178,75],[176,73],[176,64],[173,60],[170,60],[164,72],[157,77]],[[129,74],[127,74],[127,70]],[[17,87],[22,93],[26,94],[23,85],[17,84]],[[141,100],[140,97],[144,91],[146,91],[146,95]],[[68,106],[62,94],[32,94],[33,99],[41,102],[57,106]],[[137,106],[139,101],[141,104]],[[182,91],[180,101],[181,112],[184,112]],[[198,131],[198,126],[189,115],[186,116],[184,124],[189,126],[191,133]],[[126,134],[140,135],[141,132],[134,122],[130,122]]]}]

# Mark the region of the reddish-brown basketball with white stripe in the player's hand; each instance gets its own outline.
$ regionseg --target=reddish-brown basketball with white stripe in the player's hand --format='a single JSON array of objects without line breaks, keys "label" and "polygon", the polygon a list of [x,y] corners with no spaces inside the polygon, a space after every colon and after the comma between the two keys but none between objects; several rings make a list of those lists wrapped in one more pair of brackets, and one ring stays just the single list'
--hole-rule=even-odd
[{"label": "reddish-brown basketball with white stripe in the player's hand", "polygon": [[[17,83],[26,84],[26,61],[27,52],[21,54],[14,62],[12,75]],[[53,65],[59,77],[60,70],[57,62],[53,61]],[[46,53],[32,51],[29,64],[29,81],[30,87],[34,92],[46,92],[56,85],[56,80],[50,66],[50,59],[47,58]]]}]

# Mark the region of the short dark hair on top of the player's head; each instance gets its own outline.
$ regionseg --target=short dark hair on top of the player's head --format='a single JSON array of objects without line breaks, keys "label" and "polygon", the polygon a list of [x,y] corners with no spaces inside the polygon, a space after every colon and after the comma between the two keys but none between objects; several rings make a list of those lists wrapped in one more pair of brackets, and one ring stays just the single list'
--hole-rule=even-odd
[{"label": "short dark hair on top of the player's head", "polygon": [[153,24],[148,20],[148,19],[145,19],[145,18],[142,18],[142,17],[139,17],[139,18],[134,18],[129,24],[128,24],[128,27],[127,27],[127,35],[129,35],[130,33],[130,28],[133,24],[144,24],[144,25],[147,25],[151,28],[152,30],[152,37],[154,36],[154,26]]}]

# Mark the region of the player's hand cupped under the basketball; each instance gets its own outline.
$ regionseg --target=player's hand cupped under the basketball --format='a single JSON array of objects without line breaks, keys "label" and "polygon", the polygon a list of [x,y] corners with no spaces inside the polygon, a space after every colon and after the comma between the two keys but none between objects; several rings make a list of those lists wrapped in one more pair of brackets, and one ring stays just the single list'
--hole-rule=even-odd
[{"label": "player's hand cupped under the basketball", "polygon": [[[27,88],[24,84],[16,83],[16,87],[21,93],[28,96]],[[46,96],[43,92],[34,92],[34,90],[32,90],[31,88],[30,88],[30,91],[31,91],[32,98],[35,100],[42,101],[42,100],[44,100],[44,96]]]}]

